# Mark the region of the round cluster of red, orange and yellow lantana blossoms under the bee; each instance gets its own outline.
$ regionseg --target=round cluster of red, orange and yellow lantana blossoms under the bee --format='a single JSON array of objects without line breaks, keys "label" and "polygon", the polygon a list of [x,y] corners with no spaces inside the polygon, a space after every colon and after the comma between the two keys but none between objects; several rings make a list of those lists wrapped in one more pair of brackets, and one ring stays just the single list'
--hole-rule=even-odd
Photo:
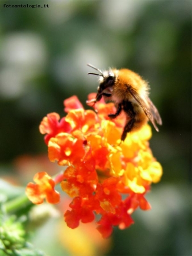
[{"label": "round cluster of red, orange and yellow lantana blossoms under the bee", "polygon": [[[95,94],[89,95],[89,100]],[[40,133],[45,134],[48,157],[65,167],[62,174],[53,179],[46,172],[35,175],[36,184],[26,188],[28,198],[34,204],[57,204],[60,201],[55,185],[72,197],[69,210],[64,213],[66,224],[74,229],[80,224],[94,221],[104,238],[113,227],[128,228],[133,224],[131,214],[137,209],[151,209],[145,199],[152,183],[161,179],[162,167],[152,155],[149,139],[151,127],[145,125],[137,132],[120,137],[126,121],[122,113],[115,113],[113,103],[103,101],[94,104],[94,110],[85,110],[76,96],[64,101],[65,117],[50,113],[40,123]]]}]

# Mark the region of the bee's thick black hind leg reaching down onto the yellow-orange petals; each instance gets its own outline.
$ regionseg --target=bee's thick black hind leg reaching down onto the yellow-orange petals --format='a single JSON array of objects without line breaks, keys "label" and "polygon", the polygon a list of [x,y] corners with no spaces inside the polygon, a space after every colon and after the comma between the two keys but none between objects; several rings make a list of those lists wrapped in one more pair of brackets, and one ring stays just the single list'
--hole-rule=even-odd
[{"label": "bee's thick black hind leg reaching down onto the yellow-orange petals", "polygon": [[135,112],[133,110],[133,106],[130,101],[123,101],[122,105],[123,105],[124,112],[129,117],[121,137],[122,141],[124,141],[126,139],[127,133],[129,133],[132,130],[135,124]]}]

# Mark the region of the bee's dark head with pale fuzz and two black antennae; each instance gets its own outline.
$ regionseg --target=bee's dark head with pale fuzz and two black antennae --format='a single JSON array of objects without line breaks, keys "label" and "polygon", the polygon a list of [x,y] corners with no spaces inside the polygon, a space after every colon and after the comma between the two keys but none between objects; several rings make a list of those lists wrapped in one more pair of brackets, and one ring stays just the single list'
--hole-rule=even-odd
[{"label": "bee's dark head with pale fuzz and two black antennae", "polygon": [[107,88],[108,88],[108,93],[111,93],[112,92],[112,86],[115,83],[115,74],[114,74],[114,72],[112,70],[102,72],[100,69],[93,67],[93,65],[87,64],[87,66],[99,71],[99,74],[97,74],[97,73],[88,73],[88,75],[100,76],[99,77],[99,86],[97,88],[98,93],[102,93]]}]

